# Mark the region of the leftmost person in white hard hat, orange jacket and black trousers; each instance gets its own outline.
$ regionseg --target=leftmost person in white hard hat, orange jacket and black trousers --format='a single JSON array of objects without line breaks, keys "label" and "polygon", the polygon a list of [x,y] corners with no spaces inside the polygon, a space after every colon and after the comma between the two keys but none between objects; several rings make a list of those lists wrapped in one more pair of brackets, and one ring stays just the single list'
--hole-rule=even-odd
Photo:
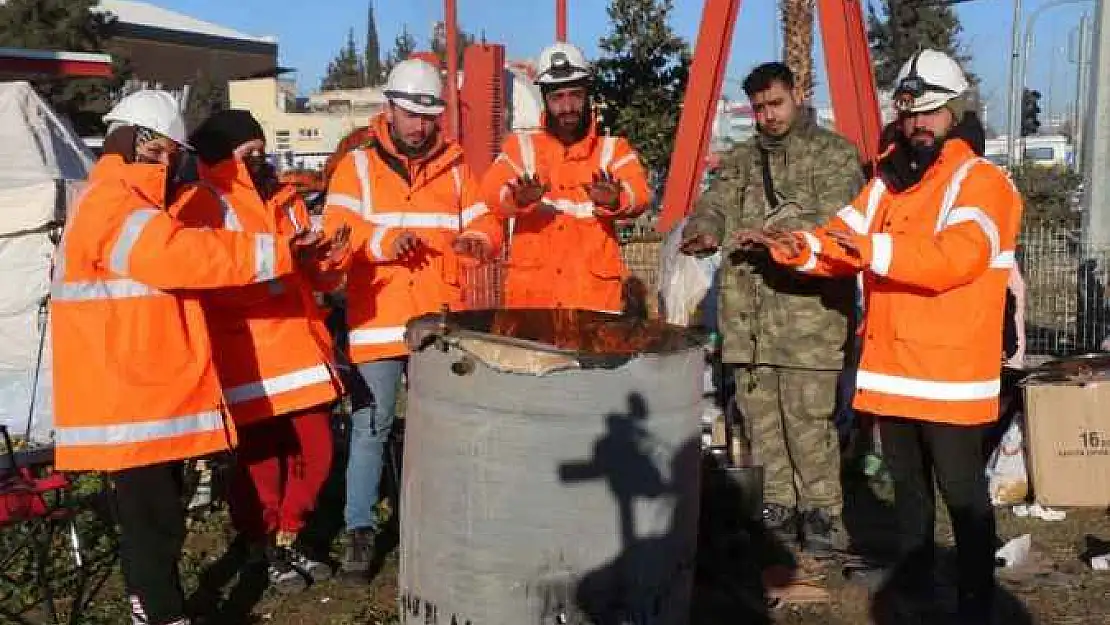
[{"label": "leftmost person in white hard hat, orange jacket and black trousers", "polygon": [[56,466],[109,472],[134,621],[181,624],[180,461],[235,444],[196,290],[269,282],[322,250],[315,234],[171,216],[185,127],[169,93],[137,92],[104,119],[104,155],[67,215],[51,285]]}]

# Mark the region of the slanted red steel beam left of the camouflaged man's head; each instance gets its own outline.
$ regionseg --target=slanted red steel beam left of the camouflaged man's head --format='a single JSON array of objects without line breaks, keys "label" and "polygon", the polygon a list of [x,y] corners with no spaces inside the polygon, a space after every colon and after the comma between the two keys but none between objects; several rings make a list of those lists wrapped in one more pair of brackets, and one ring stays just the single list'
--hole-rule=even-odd
[{"label": "slanted red steel beam left of the camouflaged man's head", "polygon": [[655,229],[669,231],[689,212],[702,184],[713,118],[728,64],[733,29],[741,0],[705,0],[694,62],[690,65],[675,148],[663,191],[663,212]]}]

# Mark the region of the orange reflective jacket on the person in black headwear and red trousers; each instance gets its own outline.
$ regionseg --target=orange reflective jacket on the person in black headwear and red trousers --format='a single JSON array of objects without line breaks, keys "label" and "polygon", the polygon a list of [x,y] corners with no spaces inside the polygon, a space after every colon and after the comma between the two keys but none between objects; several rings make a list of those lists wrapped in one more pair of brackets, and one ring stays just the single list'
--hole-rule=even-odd
[{"label": "orange reflective jacket on the person in black headwear and red trousers", "polygon": [[[191,226],[292,236],[311,228],[292,185],[263,202],[235,159],[201,169],[202,184],[178,203]],[[315,304],[312,276],[296,272],[264,284],[202,294],[215,365],[238,425],[333,401],[332,341]]]}]

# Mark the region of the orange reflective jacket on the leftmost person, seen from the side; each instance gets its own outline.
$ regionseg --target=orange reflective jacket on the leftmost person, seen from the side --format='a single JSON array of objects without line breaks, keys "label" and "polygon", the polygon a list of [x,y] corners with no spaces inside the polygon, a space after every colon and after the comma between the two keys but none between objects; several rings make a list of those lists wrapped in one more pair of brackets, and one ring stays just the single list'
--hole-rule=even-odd
[{"label": "orange reflective jacket on the leftmost person, seen from the side", "polygon": [[289,238],[185,228],[165,168],[97,163],[51,285],[56,465],[119,471],[231,448],[198,289],[293,271]]}]

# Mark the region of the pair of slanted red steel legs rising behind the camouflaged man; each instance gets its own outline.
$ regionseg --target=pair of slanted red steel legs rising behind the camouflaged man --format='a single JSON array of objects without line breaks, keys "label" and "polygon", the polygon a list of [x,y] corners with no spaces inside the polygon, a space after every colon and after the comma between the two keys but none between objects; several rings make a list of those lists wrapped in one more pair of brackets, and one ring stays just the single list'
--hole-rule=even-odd
[{"label": "pair of slanted red steel legs rising behind the camouflaged man", "polygon": [[[740,0],[706,0],[678,134],[656,230],[667,232],[693,209]],[[859,0],[818,0],[829,93],[837,130],[866,162],[878,155],[881,118]]]}]

